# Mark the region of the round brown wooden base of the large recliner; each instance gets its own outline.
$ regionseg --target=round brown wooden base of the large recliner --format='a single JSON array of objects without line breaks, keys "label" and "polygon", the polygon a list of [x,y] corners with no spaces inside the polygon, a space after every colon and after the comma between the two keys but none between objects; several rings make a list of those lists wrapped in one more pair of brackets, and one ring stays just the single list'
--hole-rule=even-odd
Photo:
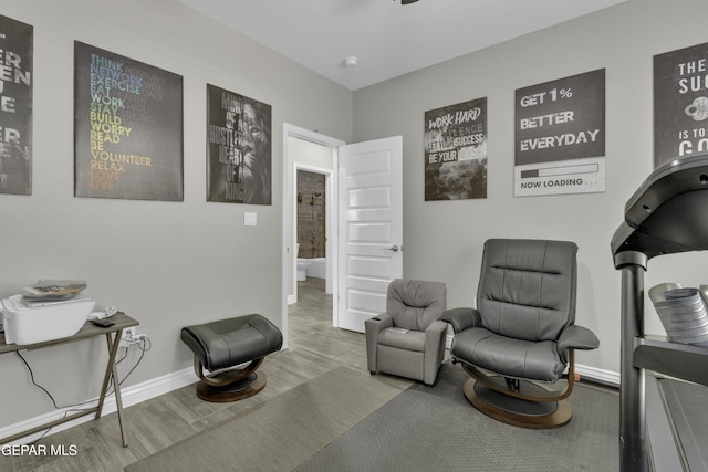
[{"label": "round brown wooden base of the large recliner", "polygon": [[[493,381],[504,384],[503,377],[491,377]],[[521,380],[521,390],[545,390],[542,386]],[[480,412],[507,424],[530,428],[551,429],[566,424],[573,415],[566,400],[530,401],[511,397],[470,378],[465,382],[465,398]]]}]

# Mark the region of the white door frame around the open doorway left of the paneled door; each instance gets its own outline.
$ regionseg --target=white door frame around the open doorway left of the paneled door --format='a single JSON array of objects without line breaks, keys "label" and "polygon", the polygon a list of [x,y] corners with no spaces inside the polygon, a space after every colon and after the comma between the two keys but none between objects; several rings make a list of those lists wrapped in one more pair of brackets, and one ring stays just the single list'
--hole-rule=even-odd
[{"label": "white door frame around the open doorway left of the paneled door", "polygon": [[[299,128],[293,125],[283,126],[283,260],[282,260],[282,314],[281,329],[283,332],[283,346],[288,346],[288,306],[298,301],[298,170],[306,170],[325,176],[324,195],[317,197],[316,204],[323,197],[326,214],[324,217],[326,231],[324,234],[326,253],[325,260],[325,291],[330,293],[336,286],[336,178],[337,149],[343,141],[321,135],[316,132]],[[312,195],[306,190],[302,195],[302,202],[309,203]],[[335,313],[333,307],[331,323]]]}]

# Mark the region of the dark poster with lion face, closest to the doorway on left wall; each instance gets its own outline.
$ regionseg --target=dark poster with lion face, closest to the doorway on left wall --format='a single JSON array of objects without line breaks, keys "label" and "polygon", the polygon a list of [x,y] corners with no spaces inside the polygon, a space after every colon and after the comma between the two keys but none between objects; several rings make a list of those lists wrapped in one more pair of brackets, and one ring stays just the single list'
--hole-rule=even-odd
[{"label": "dark poster with lion face, closest to the doorway on left wall", "polygon": [[207,84],[207,201],[271,204],[271,107]]}]

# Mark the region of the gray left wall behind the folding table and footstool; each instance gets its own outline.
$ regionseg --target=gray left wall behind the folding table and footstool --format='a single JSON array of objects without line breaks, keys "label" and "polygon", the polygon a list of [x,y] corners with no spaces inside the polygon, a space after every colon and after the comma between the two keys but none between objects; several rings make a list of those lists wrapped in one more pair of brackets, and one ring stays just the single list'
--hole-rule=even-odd
[{"label": "gray left wall behind the folding table and footstool", "polygon": [[[176,0],[12,0],[1,13],[34,27],[34,162],[31,197],[0,196],[0,296],[86,280],[153,342],[124,388],[191,366],[185,325],[252,312],[280,324],[283,123],[350,140],[352,93]],[[184,202],[73,197],[74,40],[184,76]],[[272,106],[272,206],[206,202],[207,83]],[[97,339],[25,357],[61,406],[98,394],[104,352]],[[0,377],[0,427],[52,409],[14,356]]]}]

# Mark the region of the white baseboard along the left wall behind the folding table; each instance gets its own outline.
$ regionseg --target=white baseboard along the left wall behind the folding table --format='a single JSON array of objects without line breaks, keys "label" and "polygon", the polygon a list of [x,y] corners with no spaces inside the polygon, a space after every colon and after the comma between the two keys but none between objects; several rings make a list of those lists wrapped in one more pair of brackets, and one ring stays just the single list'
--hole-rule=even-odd
[{"label": "white baseboard along the left wall behind the folding table", "polygon": [[[149,400],[150,398],[159,397],[160,395],[170,392],[178,388],[185,387],[189,384],[195,384],[197,381],[197,377],[195,376],[194,368],[186,368],[176,373],[167,374],[162,377],[154,378],[152,380],[147,380],[143,384],[134,385],[131,387],[125,387],[121,389],[121,398],[123,399],[123,408],[131,407],[133,405],[140,403],[145,400]],[[93,398],[88,400],[86,403],[82,403],[81,408],[95,408],[98,405],[98,399]],[[65,413],[71,415],[77,411],[76,407],[64,408],[60,410],[50,411],[49,413],[40,415],[39,417],[30,418],[29,420],[21,421],[19,423],[10,424],[4,428],[0,428],[0,438],[8,438],[14,434],[18,434],[22,431],[30,430],[32,428],[40,427],[50,421],[59,420],[65,416]],[[117,406],[115,402],[115,396],[107,396],[103,403],[102,416],[113,413],[117,411]],[[94,419],[93,415],[86,415],[82,418],[76,418],[73,421],[69,421],[63,424],[55,426],[51,429],[51,431],[46,436],[54,434],[56,432],[63,431],[65,429],[92,421]],[[27,444],[32,442],[39,438],[41,438],[43,432],[39,432],[35,434],[27,436],[24,438],[20,438],[19,440],[12,442],[14,444]],[[131,438],[127,438],[126,441],[129,442]],[[121,441],[119,437],[116,437],[116,441]]]}]

